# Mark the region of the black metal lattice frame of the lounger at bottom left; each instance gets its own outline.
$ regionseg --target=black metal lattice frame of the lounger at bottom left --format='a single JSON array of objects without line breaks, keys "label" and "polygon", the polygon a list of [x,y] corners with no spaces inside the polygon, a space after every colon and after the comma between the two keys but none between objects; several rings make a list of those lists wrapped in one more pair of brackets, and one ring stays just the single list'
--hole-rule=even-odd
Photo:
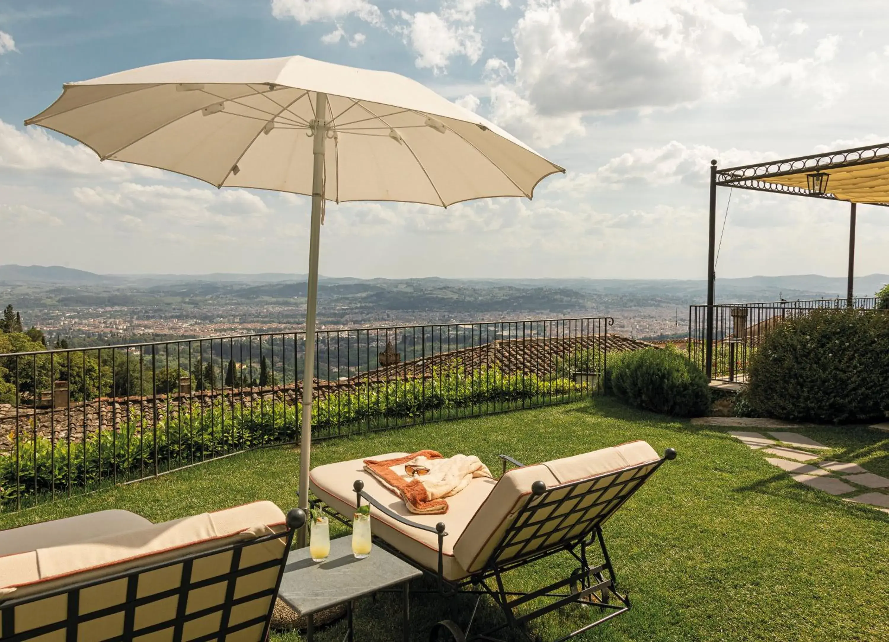
[{"label": "black metal lattice frame of the lounger at bottom left", "polygon": [[[260,639],[264,640],[268,638],[268,627],[271,622],[272,609],[275,606],[275,597],[277,596],[277,591],[281,585],[281,578],[284,575],[284,567],[287,564],[287,554],[291,548],[293,534],[296,532],[297,529],[302,527],[305,522],[305,513],[300,509],[293,509],[292,511],[287,513],[285,530],[279,533],[262,535],[254,539],[244,540],[243,542],[230,543],[224,546],[220,546],[210,551],[201,551],[199,553],[183,555],[177,559],[172,559],[169,561],[158,562],[156,564],[147,564],[143,567],[131,568],[129,570],[122,571],[113,575],[105,575],[97,579],[60,587],[56,590],[47,590],[45,592],[29,595],[25,598],[8,599],[0,603],[0,642],[25,642],[26,640],[37,638],[39,636],[52,633],[56,630],[65,630],[65,642],[76,642],[78,629],[80,628],[81,624],[91,622],[102,617],[107,617],[108,615],[119,613],[124,614],[124,631],[122,635],[108,638],[108,641],[110,642],[129,642],[133,638],[148,635],[159,630],[169,629],[171,626],[173,627],[174,631],[172,642],[181,642],[183,628],[185,627],[185,624],[187,622],[191,622],[209,614],[214,614],[217,611],[221,612],[219,630],[199,638],[194,638],[190,642],[209,642],[209,640],[212,639],[224,640],[229,634],[255,626],[256,624],[259,624],[263,621],[265,623]],[[274,539],[281,539],[282,537],[286,538],[286,544],[284,546],[284,553],[281,559],[268,559],[267,561],[260,562],[259,564],[255,564],[250,567],[239,568],[241,551],[243,551],[245,547],[263,542],[269,542]],[[198,582],[191,582],[191,568],[194,565],[196,559],[218,555],[227,551],[232,551],[231,565],[228,568],[227,573],[214,575],[211,578]],[[179,586],[169,590],[162,590],[153,595],[148,595],[142,598],[138,597],[137,589],[140,575],[166,567],[174,567],[177,565],[182,565],[182,577]],[[256,573],[257,571],[273,567],[278,567],[278,574],[274,588],[263,589],[249,595],[235,598],[235,584],[237,578],[243,575],[250,575],[252,573]],[[100,608],[90,613],[80,613],[79,603],[80,593],[82,590],[90,589],[91,587],[95,587],[100,584],[117,582],[119,580],[126,581],[126,599],[124,600],[124,602],[115,606]],[[186,613],[186,606],[190,591],[201,589],[204,586],[209,586],[220,582],[227,583],[225,598],[221,604],[210,606],[194,613]],[[38,602],[46,598],[52,598],[60,595],[68,596],[68,616],[65,619],[60,620],[59,622],[44,624],[43,626],[25,630],[20,633],[15,632],[15,609],[17,606],[28,605],[29,603]],[[229,614],[231,614],[231,610],[234,606],[244,604],[267,595],[272,596],[272,599],[269,600],[267,614],[229,626],[228,616]],[[151,624],[150,626],[143,627],[141,629],[135,629],[134,622],[137,607],[151,604],[153,602],[160,602],[166,598],[171,597],[177,598],[176,614],[174,617],[166,619],[163,622]]]}]

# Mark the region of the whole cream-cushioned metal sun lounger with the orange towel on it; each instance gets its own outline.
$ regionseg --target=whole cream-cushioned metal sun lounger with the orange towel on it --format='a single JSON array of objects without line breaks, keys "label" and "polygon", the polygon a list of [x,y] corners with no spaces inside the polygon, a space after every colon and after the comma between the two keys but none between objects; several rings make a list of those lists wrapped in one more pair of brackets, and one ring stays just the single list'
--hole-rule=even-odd
[{"label": "whole cream-cushioned metal sun lounger with the orange towel on it", "polygon": [[[629,599],[617,590],[602,525],[664,461],[675,457],[672,448],[659,456],[645,441],[530,466],[501,455],[501,479],[472,480],[459,495],[447,498],[445,515],[407,511],[404,502],[364,472],[363,459],[318,466],[309,484],[316,501],[344,521],[363,501],[371,503],[377,543],[434,576],[440,592],[491,596],[507,622],[477,639],[495,639],[489,636],[496,630],[520,627],[576,602],[601,609],[595,622],[561,638],[567,639],[629,610]],[[507,470],[510,464],[515,467]],[[600,559],[594,563],[589,556],[595,551],[589,549],[596,544]],[[565,551],[579,565],[571,575],[531,592],[504,588],[505,572]],[[470,638],[471,626],[470,617],[465,630],[450,621],[438,622],[436,629],[445,638],[463,640]]]}]

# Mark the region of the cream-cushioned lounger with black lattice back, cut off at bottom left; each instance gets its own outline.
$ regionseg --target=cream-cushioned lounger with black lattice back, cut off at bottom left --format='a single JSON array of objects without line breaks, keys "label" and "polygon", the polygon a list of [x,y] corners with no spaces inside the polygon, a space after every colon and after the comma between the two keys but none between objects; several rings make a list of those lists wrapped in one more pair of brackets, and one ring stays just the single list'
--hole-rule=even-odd
[{"label": "cream-cushioned lounger with black lattice back, cut off at bottom left", "polygon": [[100,511],[0,531],[0,640],[263,642],[304,522],[257,502],[163,524]]}]

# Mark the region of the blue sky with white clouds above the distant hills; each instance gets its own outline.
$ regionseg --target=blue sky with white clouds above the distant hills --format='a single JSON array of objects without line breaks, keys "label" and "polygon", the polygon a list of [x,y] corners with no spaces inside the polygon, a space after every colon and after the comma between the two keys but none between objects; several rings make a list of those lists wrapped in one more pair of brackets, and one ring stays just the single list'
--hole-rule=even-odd
[{"label": "blue sky with white clouds above the distant hills", "polygon": [[[307,199],[100,163],[21,124],[64,82],[301,54],[410,75],[568,169],[533,202],[330,207],[323,273],[703,278],[709,159],[885,142],[887,34],[868,0],[0,0],[0,263],[304,272]],[[889,273],[889,212],[859,211],[857,270]],[[718,273],[842,274],[847,223],[735,192]]]}]

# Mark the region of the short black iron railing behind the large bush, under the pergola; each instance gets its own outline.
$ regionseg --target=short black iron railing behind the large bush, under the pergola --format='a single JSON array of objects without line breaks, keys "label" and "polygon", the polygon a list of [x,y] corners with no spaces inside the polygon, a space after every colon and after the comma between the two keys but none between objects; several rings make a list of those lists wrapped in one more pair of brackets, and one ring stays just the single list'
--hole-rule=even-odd
[{"label": "short black iron railing behind the large bush, under the pergola", "polygon": [[[859,310],[889,307],[887,304],[889,301],[878,297],[857,297],[852,300],[852,307]],[[711,379],[743,383],[747,380],[750,358],[765,335],[781,321],[813,310],[846,310],[849,302],[845,298],[829,298],[713,305],[713,340],[709,355],[708,307],[689,306],[688,358],[705,373],[709,371]]]}]

